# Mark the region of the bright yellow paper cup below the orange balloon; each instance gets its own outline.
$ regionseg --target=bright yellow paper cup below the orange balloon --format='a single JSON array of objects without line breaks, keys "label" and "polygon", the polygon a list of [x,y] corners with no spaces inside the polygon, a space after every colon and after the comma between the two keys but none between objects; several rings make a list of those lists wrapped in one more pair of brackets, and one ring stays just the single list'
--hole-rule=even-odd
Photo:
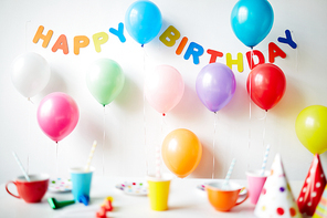
[{"label": "bright yellow paper cup below the orange balloon", "polygon": [[148,197],[152,210],[162,211],[168,209],[170,180],[170,176],[164,176],[161,178],[154,176],[147,177],[149,184]]}]

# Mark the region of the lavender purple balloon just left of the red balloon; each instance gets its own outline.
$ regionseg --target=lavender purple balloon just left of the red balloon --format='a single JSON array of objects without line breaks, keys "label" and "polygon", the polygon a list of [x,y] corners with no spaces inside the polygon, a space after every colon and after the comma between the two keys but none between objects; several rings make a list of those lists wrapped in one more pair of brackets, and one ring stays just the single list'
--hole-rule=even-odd
[{"label": "lavender purple balloon just left of the red balloon", "polygon": [[218,112],[233,97],[236,81],[232,70],[222,63],[210,63],[199,73],[196,81],[197,94],[211,112]]}]

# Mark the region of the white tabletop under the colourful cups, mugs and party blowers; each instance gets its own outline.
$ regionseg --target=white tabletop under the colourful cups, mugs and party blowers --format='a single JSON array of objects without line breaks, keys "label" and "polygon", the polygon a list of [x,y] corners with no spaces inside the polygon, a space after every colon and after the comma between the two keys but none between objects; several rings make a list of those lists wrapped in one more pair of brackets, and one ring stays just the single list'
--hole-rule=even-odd
[{"label": "white tabletop under the colourful cups, mugs and party blowers", "polygon": [[[215,180],[215,179],[214,179]],[[61,209],[53,210],[46,198],[54,197],[56,200],[73,199],[72,193],[48,191],[41,203],[27,204],[17,199],[6,191],[4,184],[0,185],[0,217],[3,218],[91,218],[99,209],[107,196],[114,197],[114,210],[107,212],[107,217],[224,217],[224,218],[252,218],[255,206],[247,199],[240,206],[233,207],[229,212],[220,212],[209,204],[207,193],[197,188],[198,185],[212,181],[212,179],[180,179],[171,181],[168,207],[166,211],[150,209],[149,199],[146,196],[127,195],[115,186],[125,181],[145,181],[145,178],[110,178],[94,177],[92,181],[91,203],[88,206],[74,204]],[[233,180],[247,186],[246,180]],[[294,198],[296,199],[303,186],[303,181],[289,181]],[[10,186],[13,190],[14,186]]]}]

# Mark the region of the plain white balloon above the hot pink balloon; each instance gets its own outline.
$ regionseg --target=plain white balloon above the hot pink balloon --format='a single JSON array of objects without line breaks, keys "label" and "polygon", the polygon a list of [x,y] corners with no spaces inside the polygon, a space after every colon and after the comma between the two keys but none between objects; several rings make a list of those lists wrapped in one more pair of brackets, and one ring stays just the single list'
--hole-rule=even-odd
[{"label": "plain white balloon above the hot pink balloon", "polygon": [[11,81],[24,97],[36,95],[46,86],[49,80],[50,66],[40,54],[28,52],[13,61]]}]

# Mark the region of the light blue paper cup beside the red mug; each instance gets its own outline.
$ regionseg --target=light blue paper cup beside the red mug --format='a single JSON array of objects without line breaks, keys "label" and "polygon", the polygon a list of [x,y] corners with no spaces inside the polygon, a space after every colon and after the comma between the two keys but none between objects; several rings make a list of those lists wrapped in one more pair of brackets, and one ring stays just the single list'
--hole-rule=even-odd
[{"label": "light blue paper cup beside the red mug", "polygon": [[88,172],[85,172],[84,167],[73,167],[70,169],[72,177],[72,193],[74,200],[78,203],[81,196],[86,196],[89,198],[92,174],[95,168],[89,167]]}]

